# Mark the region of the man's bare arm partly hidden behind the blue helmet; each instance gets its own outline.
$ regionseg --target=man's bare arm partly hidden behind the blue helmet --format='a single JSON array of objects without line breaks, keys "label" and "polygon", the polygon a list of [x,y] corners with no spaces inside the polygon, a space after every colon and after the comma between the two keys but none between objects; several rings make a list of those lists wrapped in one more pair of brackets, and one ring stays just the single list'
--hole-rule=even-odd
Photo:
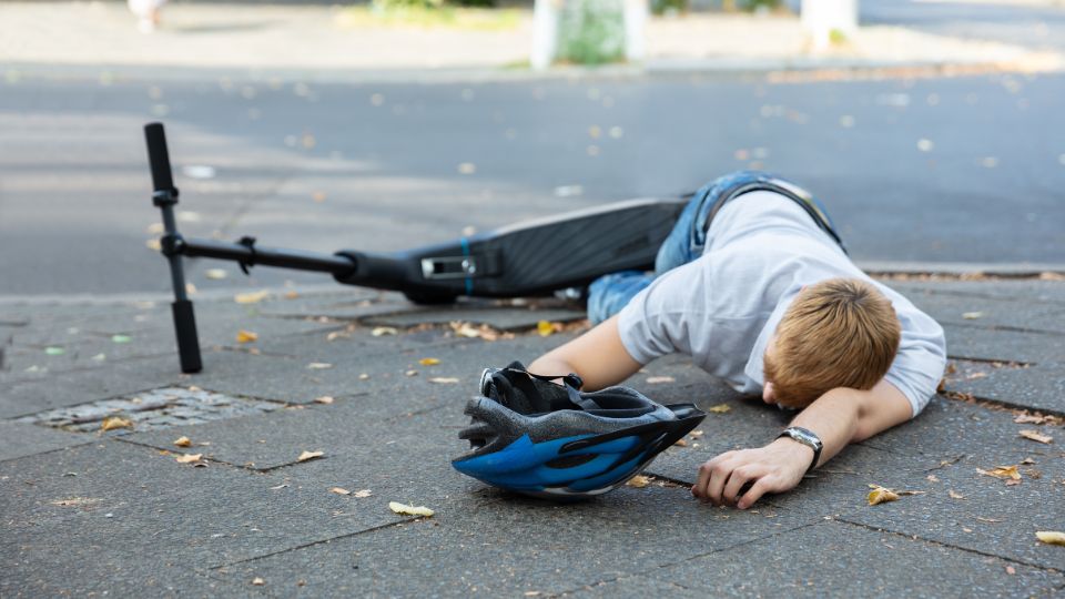
[{"label": "man's bare arm partly hidden behind the blue helmet", "polygon": [[625,380],[640,366],[621,344],[618,317],[612,316],[538,357],[529,365],[529,372],[539,375],[577,373],[585,380],[585,390],[597,390]]}]

